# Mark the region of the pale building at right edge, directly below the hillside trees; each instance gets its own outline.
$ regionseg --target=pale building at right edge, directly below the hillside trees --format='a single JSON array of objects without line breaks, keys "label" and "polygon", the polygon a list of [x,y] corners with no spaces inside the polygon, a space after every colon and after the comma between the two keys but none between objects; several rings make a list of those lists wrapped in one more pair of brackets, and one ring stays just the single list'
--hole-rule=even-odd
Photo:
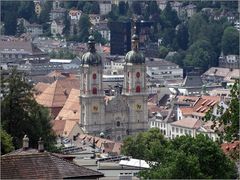
[{"label": "pale building at right edge, directly below the hillside trees", "polygon": [[221,54],[221,56],[219,57],[219,67],[239,69],[240,68],[239,55],[224,56],[223,54]]}]

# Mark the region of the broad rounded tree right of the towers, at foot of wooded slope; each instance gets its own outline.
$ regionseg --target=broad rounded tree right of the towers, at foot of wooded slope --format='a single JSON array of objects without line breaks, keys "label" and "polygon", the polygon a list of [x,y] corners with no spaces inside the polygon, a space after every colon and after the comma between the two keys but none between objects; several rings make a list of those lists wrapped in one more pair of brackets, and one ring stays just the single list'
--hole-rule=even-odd
[{"label": "broad rounded tree right of the towers, at foot of wooded slope", "polygon": [[187,50],[184,66],[200,67],[203,70],[214,64],[216,54],[211,44],[206,40],[198,40]]}]

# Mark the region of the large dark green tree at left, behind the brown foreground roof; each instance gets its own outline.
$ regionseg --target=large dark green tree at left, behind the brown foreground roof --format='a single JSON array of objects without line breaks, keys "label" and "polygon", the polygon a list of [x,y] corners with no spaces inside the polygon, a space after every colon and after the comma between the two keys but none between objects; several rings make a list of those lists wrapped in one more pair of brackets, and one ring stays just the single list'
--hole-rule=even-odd
[{"label": "large dark green tree at left, behind the brown foreground roof", "polygon": [[37,104],[32,86],[25,82],[21,73],[13,70],[2,80],[2,88],[2,126],[13,137],[15,148],[22,146],[22,138],[27,134],[31,147],[37,147],[42,137],[46,149],[50,150],[55,143],[51,117],[46,108]]}]

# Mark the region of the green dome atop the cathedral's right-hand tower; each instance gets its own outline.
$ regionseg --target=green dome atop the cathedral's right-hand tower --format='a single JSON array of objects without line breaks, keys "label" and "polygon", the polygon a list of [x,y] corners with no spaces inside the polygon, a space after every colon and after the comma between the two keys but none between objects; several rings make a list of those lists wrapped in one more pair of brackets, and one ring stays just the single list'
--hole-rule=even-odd
[{"label": "green dome atop the cathedral's right-hand tower", "polygon": [[139,51],[129,51],[125,56],[125,61],[128,63],[142,64],[145,63],[145,57]]}]

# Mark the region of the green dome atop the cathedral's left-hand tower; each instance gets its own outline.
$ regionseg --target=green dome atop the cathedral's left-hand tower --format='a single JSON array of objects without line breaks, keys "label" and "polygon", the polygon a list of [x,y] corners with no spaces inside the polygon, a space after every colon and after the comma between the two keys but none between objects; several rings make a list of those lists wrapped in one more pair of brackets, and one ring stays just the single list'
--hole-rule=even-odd
[{"label": "green dome atop the cathedral's left-hand tower", "polygon": [[102,64],[102,57],[97,52],[86,52],[82,56],[82,63],[89,65]]}]

